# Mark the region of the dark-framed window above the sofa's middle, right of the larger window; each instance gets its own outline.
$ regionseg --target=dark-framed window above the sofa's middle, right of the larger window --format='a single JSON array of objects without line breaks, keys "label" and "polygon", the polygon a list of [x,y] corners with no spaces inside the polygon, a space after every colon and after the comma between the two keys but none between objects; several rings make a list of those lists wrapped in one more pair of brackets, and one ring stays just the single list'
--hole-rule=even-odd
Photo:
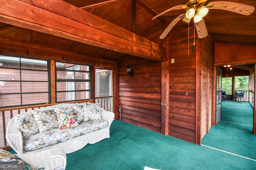
[{"label": "dark-framed window above the sofa's middle, right of the larger window", "polygon": [[92,66],[55,62],[56,102],[92,99]]}]

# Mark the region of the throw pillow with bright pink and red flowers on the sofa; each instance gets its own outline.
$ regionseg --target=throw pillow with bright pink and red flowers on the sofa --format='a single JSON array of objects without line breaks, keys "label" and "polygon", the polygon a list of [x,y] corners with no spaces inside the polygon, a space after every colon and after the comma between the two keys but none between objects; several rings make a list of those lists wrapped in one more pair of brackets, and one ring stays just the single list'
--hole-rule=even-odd
[{"label": "throw pillow with bright pink and red flowers on the sofa", "polygon": [[58,123],[59,123],[60,129],[76,127],[77,125],[79,125],[76,122],[76,113],[74,113],[74,112],[68,112],[68,113],[58,112],[57,114],[59,115]]}]

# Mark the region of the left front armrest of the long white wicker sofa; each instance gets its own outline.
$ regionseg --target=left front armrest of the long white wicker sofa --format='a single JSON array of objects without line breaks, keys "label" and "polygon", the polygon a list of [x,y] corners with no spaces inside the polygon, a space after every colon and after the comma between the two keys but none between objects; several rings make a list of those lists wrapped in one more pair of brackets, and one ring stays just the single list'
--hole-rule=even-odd
[{"label": "left front armrest of the long white wicker sofa", "polygon": [[12,147],[17,154],[23,153],[23,136],[12,119],[8,122],[6,128],[6,139],[10,147]]}]

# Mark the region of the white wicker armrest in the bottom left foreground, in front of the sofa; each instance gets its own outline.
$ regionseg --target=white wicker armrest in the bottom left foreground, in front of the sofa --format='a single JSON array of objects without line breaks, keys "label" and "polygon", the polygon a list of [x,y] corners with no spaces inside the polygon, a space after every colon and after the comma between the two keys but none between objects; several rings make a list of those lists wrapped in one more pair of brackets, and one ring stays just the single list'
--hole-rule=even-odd
[{"label": "white wicker armrest in the bottom left foreground, in front of the sofa", "polygon": [[38,152],[16,155],[36,168],[44,168],[44,170],[54,170],[58,167],[66,168],[66,154],[62,149],[46,149]]}]

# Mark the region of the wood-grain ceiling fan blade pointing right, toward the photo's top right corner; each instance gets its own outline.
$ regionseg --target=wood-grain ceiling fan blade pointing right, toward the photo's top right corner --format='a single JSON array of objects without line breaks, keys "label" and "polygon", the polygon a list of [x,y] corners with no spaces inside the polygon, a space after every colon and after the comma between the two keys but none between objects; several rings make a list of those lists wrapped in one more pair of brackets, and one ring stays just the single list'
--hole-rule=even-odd
[{"label": "wood-grain ceiling fan blade pointing right, toward the photo's top right corner", "polygon": [[216,10],[226,10],[231,12],[236,12],[238,14],[242,15],[250,15],[252,12],[254,12],[254,6],[246,5],[246,4],[240,4],[236,2],[228,2],[228,1],[214,1],[207,4],[207,6],[214,4],[212,8],[209,9],[216,9]]}]

